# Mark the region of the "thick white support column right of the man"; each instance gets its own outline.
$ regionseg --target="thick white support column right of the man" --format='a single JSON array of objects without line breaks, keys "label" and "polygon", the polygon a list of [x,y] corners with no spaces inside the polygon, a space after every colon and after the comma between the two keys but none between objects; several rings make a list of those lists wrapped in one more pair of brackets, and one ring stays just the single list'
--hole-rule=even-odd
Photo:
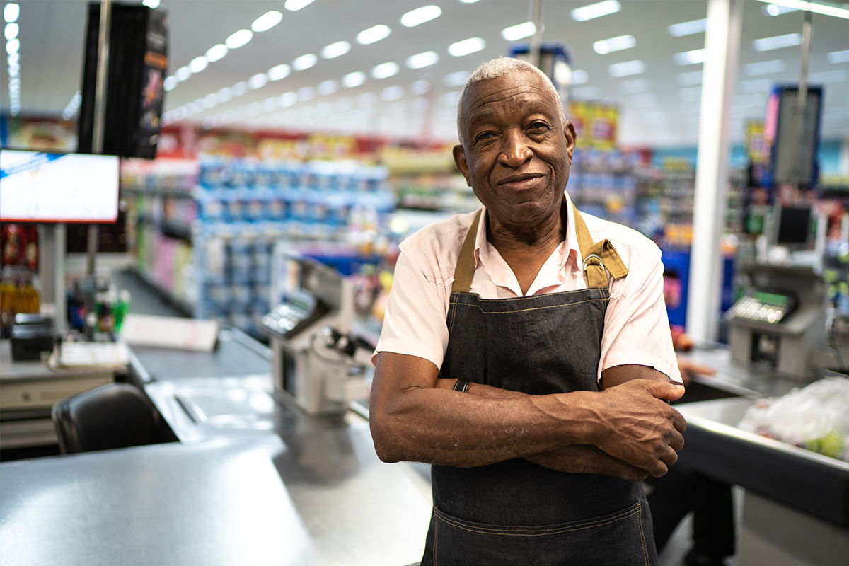
[{"label": "thick white support column right of the man", "polygon": [[728,138],[742,23],[742,0],[709,1],[687,300],[687,331],[697,340],[715,340],[718,333],[722,292],[719,244],[725,226]]}]

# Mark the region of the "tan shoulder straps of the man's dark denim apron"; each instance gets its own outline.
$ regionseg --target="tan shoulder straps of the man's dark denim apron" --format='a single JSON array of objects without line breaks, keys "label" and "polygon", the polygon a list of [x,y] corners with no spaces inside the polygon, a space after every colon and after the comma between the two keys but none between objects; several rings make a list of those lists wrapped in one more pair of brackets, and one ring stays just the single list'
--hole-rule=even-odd
[{"label": "tan shoulder straps of the man's dark denim apron", "polygon": [[[469,232],[466,233],[463,248],[460,249],[457,266],[454,267],[452,293],[468,293],[472,285],[476,266],[475,238],[477,237],[478,225],[481,222],[482,210],[477,211],[475,220],[472,221]],[[614,279],[621,279],[628,274],[625,262],[622,261],[613,244],[610,244],[610,240],[593,243],[593,237],[590,236],[587,224],[583,221],[574,204],[572,205],[572,216],[575,217],[578,249],[581,249],[581,255],[584,258],[583,268],[587,272],[588,285],[592,288],[607,289],[607,274],[604,269],[606,268]]]}]

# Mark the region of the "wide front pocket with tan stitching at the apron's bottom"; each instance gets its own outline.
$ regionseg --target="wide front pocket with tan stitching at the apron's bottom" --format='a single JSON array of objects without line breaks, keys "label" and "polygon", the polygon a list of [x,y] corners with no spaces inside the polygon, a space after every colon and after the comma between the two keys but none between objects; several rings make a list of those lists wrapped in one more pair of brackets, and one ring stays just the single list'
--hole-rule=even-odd
[{"label": "wide front pocket with tan stitching at the apron's bottom", "polygon": [[464,521],[434,509],[434,566],[649,566],[640,502],[600,517],[539,527]]}]

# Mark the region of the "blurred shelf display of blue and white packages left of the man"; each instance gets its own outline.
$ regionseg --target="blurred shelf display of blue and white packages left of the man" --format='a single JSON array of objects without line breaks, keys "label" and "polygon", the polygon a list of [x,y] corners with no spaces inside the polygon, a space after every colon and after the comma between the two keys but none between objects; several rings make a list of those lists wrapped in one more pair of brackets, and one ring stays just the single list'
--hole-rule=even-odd
[{"label": "blurred shelf display of blue and white packages left of the man", "polygon": [[191,163],[128,168],[138,271],[188,314],[251,334],[261,335],[271,306],[274,244],[309,243],[331,262],[372,255],[395,209],[381,166],[217,155]]}]

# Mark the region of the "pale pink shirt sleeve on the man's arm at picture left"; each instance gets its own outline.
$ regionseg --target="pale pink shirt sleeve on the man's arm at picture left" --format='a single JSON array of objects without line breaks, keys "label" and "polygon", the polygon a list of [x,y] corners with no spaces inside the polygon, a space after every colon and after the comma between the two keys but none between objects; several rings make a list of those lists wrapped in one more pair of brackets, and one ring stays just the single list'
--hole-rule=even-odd
[{"label": "pale pink shirt sleeve on the man's arm at picture left", "polygon": [[389,351],[442,366],[448,345],[445,284],[435,277],[426,277],[413,258],[402,251],[372,363],[378,353]]}]

